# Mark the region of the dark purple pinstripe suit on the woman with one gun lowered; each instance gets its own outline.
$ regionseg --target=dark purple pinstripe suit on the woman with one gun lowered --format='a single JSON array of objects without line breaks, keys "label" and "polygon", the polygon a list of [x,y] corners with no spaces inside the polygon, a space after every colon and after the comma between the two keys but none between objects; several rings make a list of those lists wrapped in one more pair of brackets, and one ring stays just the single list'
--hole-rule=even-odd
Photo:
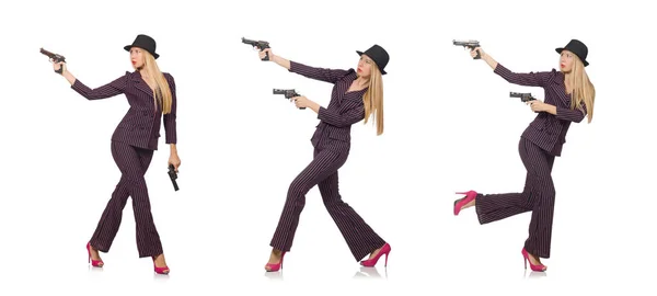
[{"label": "dark purple pinstripe suit on the woman with one gun lowered", "polygon": [[[164,115],[165,141],[175,144],[177,140],[175,81],[171,75],[163,75],[172,93],[171,113]],[[160,138],[162,109],[159,104],[155,105],[152,90],[138,71],[126,72],[125,76],[97,89],[90,89],[80,80],[76,80],[71,88],[88,100],[106,99],[124,93],[130,104],[130,109],[112,135],[112,156],[122,172],[120,181],[112,193],[112,198],[90,240],[91,246],[102,252],[110,251],[120,226],[122,212],[128,197],[131,196],[139,257],[163,253],[143,178],[153,150],[158,149]]]}]

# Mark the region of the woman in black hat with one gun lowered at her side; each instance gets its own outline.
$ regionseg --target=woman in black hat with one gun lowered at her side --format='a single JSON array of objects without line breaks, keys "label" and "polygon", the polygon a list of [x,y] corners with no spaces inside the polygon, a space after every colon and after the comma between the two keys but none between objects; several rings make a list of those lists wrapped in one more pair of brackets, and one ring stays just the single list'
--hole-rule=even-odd
[{"label": "woman in black hat with one gun lowered at her side", "polygon": [[87,243],[89,260],[93,266],[104,265],[99,251],[107,252],[118,231],[122,212],[128,196],[137,224],[137,249],[139,258],[151,257],[155,273],[169,274],[162,243],[150,210],[148,189],[143,175],[150,166],[153,151],[158,149],[161,115],[164,114],[166,144],[171,147],[169,164],[177,171],[181,160],[176,144],[176,95],[175,82],[170,73],[158,68],[155,41],[138,35],[131,45],[124,47],[130,53],[134,72],[100,87],[90,89],[68,71],[66,64],[54,62],[53,67],[69,81],[71,88],[88,100],[100,100],[124,93],[130,109],[112,136],[112,156],[122,172],[112,198],[107,203],[95,232]]}]

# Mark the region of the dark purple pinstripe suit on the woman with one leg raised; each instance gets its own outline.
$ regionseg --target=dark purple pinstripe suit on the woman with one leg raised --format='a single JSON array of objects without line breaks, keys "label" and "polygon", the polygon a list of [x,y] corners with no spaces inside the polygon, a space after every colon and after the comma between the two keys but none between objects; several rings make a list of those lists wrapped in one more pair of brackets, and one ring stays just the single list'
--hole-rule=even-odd
[{"label": "dark purple pinstripe suit on the woman with one leg raised", "polygon": [[481,224],[504,219],[520,213],[532,212],[529,238],[525,242],[528,252],[550,258],[552,220],[555,190],[552,181],[554,158],[561,156],[566,143],[570,122],[579,123],[586,116],[581,110],[570,110],[570,95],[566,94],[564,73],[552,69],[545,72],[516,73],[497,64],[495,73],[510,83],[541,87],[545,103],[556,106],[556,115],[540,112],[522,133],[519,152],[527,168],[527,179],[521,193],[479,194],[475,200]]}]

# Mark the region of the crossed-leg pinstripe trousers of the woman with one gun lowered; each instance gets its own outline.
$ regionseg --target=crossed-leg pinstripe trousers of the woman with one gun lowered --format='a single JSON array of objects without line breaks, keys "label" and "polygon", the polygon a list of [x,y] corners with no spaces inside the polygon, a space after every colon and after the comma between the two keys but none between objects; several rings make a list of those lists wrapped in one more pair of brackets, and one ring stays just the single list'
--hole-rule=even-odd
[{"label": "crossed-leg pinstripe trousers of the woman with one gun lowered", "polygon": [[150,210],[146,179],[143,179],[153,157],[153,150],[112,141],[112,157],[120,170],[122,177],[93,232],[90,240],[91,246],[102,252],[110,251],[120,226],[123,209],[128,197],[131,196],[139,258],[163,253],[160,236]]}]

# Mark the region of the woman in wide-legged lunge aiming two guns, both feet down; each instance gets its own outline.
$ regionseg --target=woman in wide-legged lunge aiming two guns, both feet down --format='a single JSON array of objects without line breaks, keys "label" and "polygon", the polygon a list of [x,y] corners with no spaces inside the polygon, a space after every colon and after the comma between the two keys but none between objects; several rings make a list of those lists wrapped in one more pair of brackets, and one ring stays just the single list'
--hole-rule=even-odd
[{"label": "woman in wide-legged lunge aiming two guns, both feet down", "polygon": [[370,254],[360,264],[374,266],[381,255],[388,254],[390,244],[380,238],[365,220],[345,202],[337,185],[337,171],[345,163],[350,148],[351,125],[373,115],[377,135],[383,133],[383,84],[381,76],[389,55],[380,46],[374,45],[360,56],[357,71],[334,70],[309,67],[274,55],[270,48],[262,50],[260,58],[269,55],[269,60],[291,72],[328,83],[333,83],[333,93],[327,107],[306,96],[292,98],[297,107],[307,107],[318,114],[320,124],[311,138],[314,158],[289,186],[287,200],[274,232],[269,261],[265,265],[268,272],[283,267],[283,259],[290,251],[299,216],[306,204],[306,194],[314,185],[319,185],[322,200],[328,214],[345,238],[356,261]]}]

